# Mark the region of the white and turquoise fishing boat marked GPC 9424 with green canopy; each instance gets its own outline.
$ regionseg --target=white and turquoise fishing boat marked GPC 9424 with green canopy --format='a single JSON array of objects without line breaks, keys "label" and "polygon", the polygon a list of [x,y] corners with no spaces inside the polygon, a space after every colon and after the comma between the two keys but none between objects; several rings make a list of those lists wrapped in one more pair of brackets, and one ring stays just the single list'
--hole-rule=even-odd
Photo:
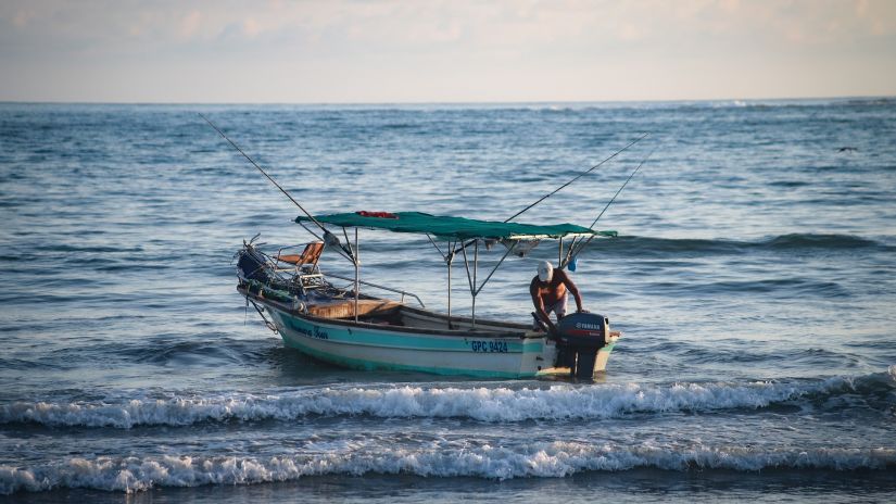
[{"label": "white and turquoise fishing boat marked GPC 9424 with green canopy", "polygon": [[[531,320],[525,324],[476,316],[477,295],[507,257],[526,255],[544,240],[557,240],[561,256],[565,238],[590,240],[615,236],[615,231],[594,231],[572,224],[531,225],[418,212],[307,214],[295,222],[318,241],[308,243],[298,254],[285,250],[267,254],[253,240],[244,241],[237,254],[237,289],[268,327],[280,333],[286,345],[316,360],[368,370],[483,378],[557,374],[591,378],[606,368],[620,337],[618,331],[610,330],[607,317],[591,313],[566,316],[552,332],[533,328]],[[306,224],[318,226],[323,237]],[[326,226],[341,227],[344,242]],[[354,244],[350,243],[349,229],[354,232]],[[447,267],[447,312],[427,310],[419,297],[402,289],[361,280],[358,229],[429,238]],[[479,281],[480,249],[497,243],[506,250],[484,280]],[[325,250],[348,259],[354,265],[354,278],[326,274],[319,264]],[[472,300],[469,316],[451,313],[452,265],[457,257],[463,259]],[[351,281],[351,287],[336,287],[332,278]],[[370,291],[392,292],[399,300],[373,295]]]}]

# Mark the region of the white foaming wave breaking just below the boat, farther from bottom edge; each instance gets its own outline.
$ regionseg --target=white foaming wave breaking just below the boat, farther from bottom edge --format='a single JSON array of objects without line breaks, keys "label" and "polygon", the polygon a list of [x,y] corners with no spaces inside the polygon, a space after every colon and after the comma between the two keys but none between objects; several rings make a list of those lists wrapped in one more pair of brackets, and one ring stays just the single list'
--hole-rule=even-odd
[{"label": "white foaming wave breaking just below the boat, farther from bottom edge", "polygon": [[132,399],[118,402],[15,402],[0,424],[116,427],[294,420],[306,416],[462,417],[484,423],[614,418],[631,414],[762,408],[834,395],[888,395],[896,366],[858,378],[798,382],[553,386],[547,389],[371,387]]}]

